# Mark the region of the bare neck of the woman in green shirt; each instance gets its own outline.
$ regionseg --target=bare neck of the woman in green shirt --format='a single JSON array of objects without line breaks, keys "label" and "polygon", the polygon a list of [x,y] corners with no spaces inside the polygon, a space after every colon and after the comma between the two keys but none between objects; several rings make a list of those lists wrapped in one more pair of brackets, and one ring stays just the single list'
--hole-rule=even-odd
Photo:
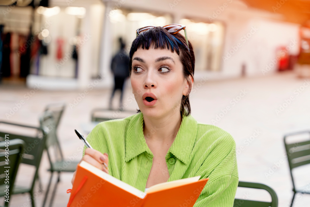
[{"label": "bare neck of the woman in green shirt", "polygon": [[180,111],[157,119],[148,116],[143,116],[143,118],[144,137],[151,142],[173,142],[182,123]]}]

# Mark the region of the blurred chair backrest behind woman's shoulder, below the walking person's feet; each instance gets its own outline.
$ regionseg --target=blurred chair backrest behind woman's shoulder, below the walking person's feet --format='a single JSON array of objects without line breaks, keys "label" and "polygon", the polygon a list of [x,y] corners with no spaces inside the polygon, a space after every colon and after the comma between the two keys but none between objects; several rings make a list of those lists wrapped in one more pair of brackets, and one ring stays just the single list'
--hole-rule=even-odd
[{"label": "blurred chair backrest behind woman's shoulder, below the walking person's feet", "polygon": [[122,119],[127,116],[136,114],[137,111],[134,110],[109,110],[109,109],[93,109],[91,111],[91,121],[102,122],[112,119]]}]

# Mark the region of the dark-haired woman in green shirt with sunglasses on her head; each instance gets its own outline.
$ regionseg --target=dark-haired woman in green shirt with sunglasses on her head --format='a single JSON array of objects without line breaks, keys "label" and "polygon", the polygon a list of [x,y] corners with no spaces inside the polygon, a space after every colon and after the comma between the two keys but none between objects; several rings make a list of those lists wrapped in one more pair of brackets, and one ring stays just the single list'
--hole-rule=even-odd
[{"label": "dark-haired woman in green shirt with sunglasses on her head", "polygon": [[94,150],[87,148],[82,160],[141,191],[200,175],[209,181],[194,207],[233,206],[236,144],[223,129],[190,115],[195,58],[181,26],[175,34],[169,26],[137,30],[129,65],[139,113],[98,124],[87,136]]}]

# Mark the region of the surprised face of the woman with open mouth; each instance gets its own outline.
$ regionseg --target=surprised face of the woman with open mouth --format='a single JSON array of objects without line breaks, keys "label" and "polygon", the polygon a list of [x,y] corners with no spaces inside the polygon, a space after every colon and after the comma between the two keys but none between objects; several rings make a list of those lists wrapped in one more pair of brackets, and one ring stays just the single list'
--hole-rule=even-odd
[{"label": "surprised face of the woman with open mouth", "polygon": [[[132,56],[132,92],[144,116],[161,117],[180,111],[182,96],[189,84],[176,52],[168,49],[139,48]],[[152,98],[145,96],[155,95]]]}]

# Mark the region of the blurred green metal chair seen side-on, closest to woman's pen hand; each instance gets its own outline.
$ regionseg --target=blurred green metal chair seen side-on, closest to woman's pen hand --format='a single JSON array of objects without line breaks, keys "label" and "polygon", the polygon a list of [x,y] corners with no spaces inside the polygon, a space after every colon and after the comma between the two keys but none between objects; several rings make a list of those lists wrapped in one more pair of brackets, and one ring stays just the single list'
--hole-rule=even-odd
[{"label": "blurred green metal chair seen side-on, closest to woman's pen hand", "polygon": [[54,189],[52,191],[49,206],[51,206],[53,203],[55,193],[56,193],[56,189],[57,189],[57,185],[60,182],[60,173],[61,172],[74,172],[76,170],[76,166],[79,163],[79,160],[75,161],[75,160],[64,159],[64,156],[63,156],[63,153],[62,153],[62,150],[60,147],[60,142],[59,142],[59,139],[57,137],[57,129],[58,129],[62,114],[64,112],[64,108],[65,108],[65,104],[60,103],[60,104],[50,104],[45,109],[45,111],[49,111],[52,114],[52,116],[54,118],[54,125],[53,125],[52,129],[50,130],[50,132],[47,136],[47,141],[46,141],[47,157],[48,157],[48,160],[49,160],[50,166],[51,166],[50,169],[48,169],[48,171],[51,172],[51,175],[50,175],[49,183],[47,185],[47,190],[45,193],[45,197],[44,197],[42,206],[45,206],[45,204],[47,202],[47,197],[48,197],[49,189],[51,187],[51,181],[53,178],[53,174],[55,172],[58,173],[58,178],[57,178],[57,181],[55,183]]}]

